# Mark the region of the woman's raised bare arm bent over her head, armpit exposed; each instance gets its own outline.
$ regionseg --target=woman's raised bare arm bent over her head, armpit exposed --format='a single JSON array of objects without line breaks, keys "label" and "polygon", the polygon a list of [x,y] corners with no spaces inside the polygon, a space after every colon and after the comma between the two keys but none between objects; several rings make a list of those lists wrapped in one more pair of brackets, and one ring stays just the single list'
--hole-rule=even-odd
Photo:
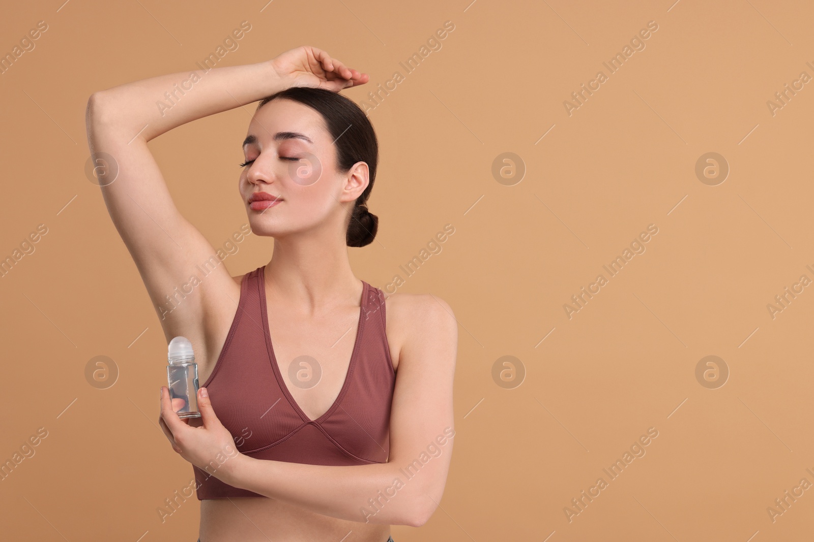
[{"label": "woman's raised bare arm bent over her head, armpit exposed", "polygon": [[[203,336],[204,311],[223,302],[213,293],[234,288],[234,282],[225,266],[219,265],[212,245],[178,212],[147,141],[290,86],[339,91],[365,80],[325,51],[301,46],[263,63],[173,73],[90,97],[88,145],[98,171],[103,172],[99,184],[104,202],[142,275],[167,340],[177,335]],[[161,107],[159,102],[174,105]],[[206,182],[200,180],[195,188],[204,189]],[[167,296],[177,295],[176,288],[201,274],[196,266],[207,269],[206,280],[193,288],[177,310],[168,310],[173,305]]]}]

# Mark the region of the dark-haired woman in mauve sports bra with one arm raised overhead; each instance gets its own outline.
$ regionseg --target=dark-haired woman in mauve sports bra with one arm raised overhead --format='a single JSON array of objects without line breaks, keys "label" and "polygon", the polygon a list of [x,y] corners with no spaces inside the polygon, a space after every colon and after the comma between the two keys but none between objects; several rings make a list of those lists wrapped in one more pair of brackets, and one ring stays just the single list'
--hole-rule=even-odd
[{"label": "dark-haired woman in mauve sports bra with one arm raised overhead", "polygon": [[[427,522],[444,491],[453,312],[430,294],[385,297],[348,262],[346,247],[376,233],[365,202],[378,148],[364,113],[339,91],[367,81],[302,46],[88,102],[91,154],[117,167],[99,177],[107,210],[166,339],[187,337],[199,363],[202,418],[178,418],[179,400],[162,386],[160,425],[193,465],[204,542],[386,542],[392,524]],[[274,253],[233,277],[178,213],[147,141],[258,100],[239,194],[252,232],[274,237]],[[189,189],[205,190],[198,181]]]}]

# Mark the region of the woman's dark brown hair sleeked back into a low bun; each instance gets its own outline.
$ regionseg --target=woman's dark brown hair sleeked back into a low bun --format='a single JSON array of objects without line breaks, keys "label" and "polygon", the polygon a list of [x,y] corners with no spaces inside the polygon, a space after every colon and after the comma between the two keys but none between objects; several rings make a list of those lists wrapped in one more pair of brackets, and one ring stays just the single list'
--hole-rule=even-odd
[{"label": "woman's dark brown hair sleeked back into a low bun", "polygon": [[328,89],[291,87],[264,98],[257,109],[275,98],[300,102],[317,111],[333,137],[336,146],[336,170],[347,173],[357,162],[367,163],[370,182],[357,197],[356,205],[348,221],[345,239],[348,246],[365,246],[373,242],[379,229],[379,217],[367,210],[367,198],[376,178],[379,161],[379,141],[373,125],[364,111],[349,98]]}]

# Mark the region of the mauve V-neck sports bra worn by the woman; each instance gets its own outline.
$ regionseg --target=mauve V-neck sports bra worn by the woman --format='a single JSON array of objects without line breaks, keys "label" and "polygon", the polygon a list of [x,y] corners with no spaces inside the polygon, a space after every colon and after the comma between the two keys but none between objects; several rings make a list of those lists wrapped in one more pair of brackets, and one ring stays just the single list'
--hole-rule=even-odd
[{"label": "mauve V-neck sports bra worn by the woman", "polygon": [[[243,276],[229,335],[204,383],[236,448],[256,459],[310,465],[387,462],[396,372],[385,334],[384,294],[362,280],[359,327],[342,390],[326,413],[312,420],[294,401],[274,358],[264,271],[262,266]],[[193,469],[199,501],[262,496]]]}]

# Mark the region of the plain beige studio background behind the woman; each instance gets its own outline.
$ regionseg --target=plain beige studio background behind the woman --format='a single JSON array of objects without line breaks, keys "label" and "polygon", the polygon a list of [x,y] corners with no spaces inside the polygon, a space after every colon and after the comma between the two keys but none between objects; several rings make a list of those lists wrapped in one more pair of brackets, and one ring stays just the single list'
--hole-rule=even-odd
[{"label": "plain beige studio background behind the woman", "polygon": [[[164,523],[156,512],[192,470],[155,425],[166,342],[85,177],[85,103],[194,69],[243,20],[252,30],[219,65],[318,46],[370,74],[347,91],[357,103],[404,76],[370,112],[381,222],[372,245],[350,249],[358,276],[385,288],[455,228],[398,290],[444,298],[460,327],[444,499],[426,526],[394,526],[397,542],[810,535],[814,489],[773,522],[767,512],[814,483],[814,287],[774,319],[767,309],[814,280],[812,84],[775,115],[767,106],[814,76],[807,2],[61,2],[17,3],[0,20],[3,54],[48,24],[0,75],[0,255],[48,228],[0,279],[0,459],[48,431],[0,482],[3,538],[194,540],[194,497]],[[407,74],[400,62],[446,20],[442,48]],[[646,48],[569,116],[563,102],[651,20]],[[215,247],[247,222],[236,186],[250,111],[151,142]],[[527,169],[512,186],[492,177],[504,152]],[[731,168],[716,186],[695,175],[708,152]],[[568,319],[563,304],[651,223],[646,252]],[[233,275],[267,262],[272,243],[237,246]],[[120,371],[111,388],[85,379],[98,355]],[[505,355],[525,367],[519,387],[492,379]],[[729,367],[720,388],[696,379],[707,355]],[[646,455],[607,477],[649,427]],[[608,486],[569,522],[563,509],[599,477]]]}]

